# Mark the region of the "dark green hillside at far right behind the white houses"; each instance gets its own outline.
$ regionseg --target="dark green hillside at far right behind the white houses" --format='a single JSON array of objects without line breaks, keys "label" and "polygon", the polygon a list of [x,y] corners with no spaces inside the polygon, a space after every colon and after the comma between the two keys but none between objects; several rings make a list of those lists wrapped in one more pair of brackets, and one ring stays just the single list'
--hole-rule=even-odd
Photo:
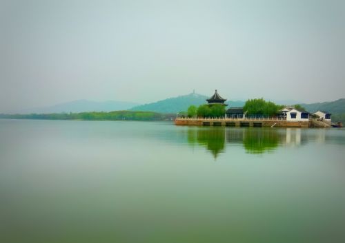
[{"label": "dark green hillside at far right behind the white houses", "polygon": [[330,112],[331,114],[345,114],[345,98],[339,98],[337,101],[312,103],[312,104],[300,104],[308,112],[317,112],[318,110]]}]

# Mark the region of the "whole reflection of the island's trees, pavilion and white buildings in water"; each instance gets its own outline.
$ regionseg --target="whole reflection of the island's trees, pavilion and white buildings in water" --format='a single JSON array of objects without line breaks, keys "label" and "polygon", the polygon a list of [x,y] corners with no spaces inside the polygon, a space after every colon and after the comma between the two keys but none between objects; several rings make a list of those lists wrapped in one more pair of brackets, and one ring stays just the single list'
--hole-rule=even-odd
[{"label": "whole reflection of the island's trees, pavilion and white buildings in water", "polygon": [[[190,127],[187,131],[190,145],[205,147],[215,158],[226,150],[226,144],[242,145],[248,154],[273,152],[277,147],[301,146],[309,139],[306,129],[288,128],[225,128],[225,127]],[[317,140],[322,140],[317,134]],[[323,138],[324,139],[324,138]]]}]

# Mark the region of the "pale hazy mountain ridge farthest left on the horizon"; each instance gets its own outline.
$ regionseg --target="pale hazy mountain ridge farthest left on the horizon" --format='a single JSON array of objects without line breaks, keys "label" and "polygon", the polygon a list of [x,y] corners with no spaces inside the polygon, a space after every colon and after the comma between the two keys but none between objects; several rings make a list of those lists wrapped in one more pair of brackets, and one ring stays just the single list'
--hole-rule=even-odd
[{"label": "pale hazy mountain ridge farthest left on the horizon", "polygon": [[10,113],[18,114],[43,114],[43,113],[62,113],[62,112],[112,112],[119,110],[126,110],[139,105],[138,103],[124,102],[124,101],[71,101],[67,103],[60,103],[48,107],[39,107],[35,109],[23,109],[21,111],[14,111]]}]

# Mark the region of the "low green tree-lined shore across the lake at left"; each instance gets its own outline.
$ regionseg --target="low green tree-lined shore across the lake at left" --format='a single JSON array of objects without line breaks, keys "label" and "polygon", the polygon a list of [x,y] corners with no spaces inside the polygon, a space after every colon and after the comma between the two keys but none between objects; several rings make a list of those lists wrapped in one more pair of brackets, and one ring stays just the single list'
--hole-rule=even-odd
[{"label": "low green tree-lined shore across the lake at left", "polygon": [[3,119],[37,119],[37,120],[172,120],[175,114],[157,112],[81,112],[52,114],[0,114]]}]

